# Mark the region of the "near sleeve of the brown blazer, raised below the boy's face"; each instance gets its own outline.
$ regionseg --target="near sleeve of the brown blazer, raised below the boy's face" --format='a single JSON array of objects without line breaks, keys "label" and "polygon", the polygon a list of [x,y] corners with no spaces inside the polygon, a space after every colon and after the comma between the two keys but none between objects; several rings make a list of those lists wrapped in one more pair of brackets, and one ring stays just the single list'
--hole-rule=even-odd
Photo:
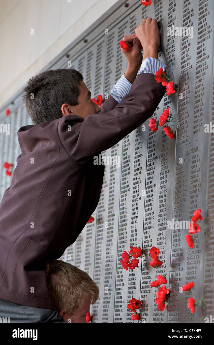
[{"label": "near sleeve of the brown blazer, raised below the boy's face", "polygon": [[165,92],[166,87],[156,82],[154,74],[137,75],[130,92],[114,109],[101,116],[88,115],[82,122],[72,122],[69,115],[62,117],[58,132],[63,146],[76,162],[84,164],[92,155],[114,146],[152,116]]}]

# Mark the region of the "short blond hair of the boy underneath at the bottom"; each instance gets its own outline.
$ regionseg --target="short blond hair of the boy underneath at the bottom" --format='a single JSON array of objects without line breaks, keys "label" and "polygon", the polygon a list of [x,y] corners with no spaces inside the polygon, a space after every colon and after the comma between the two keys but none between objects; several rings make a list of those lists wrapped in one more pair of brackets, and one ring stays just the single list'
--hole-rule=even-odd
[{"label": "short blond hair of the boy underneath at the bottom", "polygon": [[49,294],[59,311],[64,310],[73,319],[85,303],[94,304],[99,288],[89,275],[62,260],[48,260],[46,279]]}]

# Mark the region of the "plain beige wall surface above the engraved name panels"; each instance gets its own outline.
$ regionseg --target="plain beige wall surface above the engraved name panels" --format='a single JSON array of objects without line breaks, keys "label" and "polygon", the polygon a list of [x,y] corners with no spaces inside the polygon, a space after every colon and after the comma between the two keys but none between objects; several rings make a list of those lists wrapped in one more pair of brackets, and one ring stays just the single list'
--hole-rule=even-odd
[{"label": "plain beige wall surface above the engraved name panels", "polygon": [[0,107],[116,2],[0,0]]}]

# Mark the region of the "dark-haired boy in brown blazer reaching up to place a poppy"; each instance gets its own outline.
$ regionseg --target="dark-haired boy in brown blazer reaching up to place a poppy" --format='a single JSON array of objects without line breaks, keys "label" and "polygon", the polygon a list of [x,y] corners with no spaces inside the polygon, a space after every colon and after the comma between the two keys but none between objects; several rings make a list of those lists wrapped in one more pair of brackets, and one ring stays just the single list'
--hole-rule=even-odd
[{"label": "dark-haired boy in brown blazer reaching up to place a poppy", "polygon": [[134,37],[123,51],[128,67],[101,107],[73,69],[42,72],[24,88],[35,125],[18,130],[22,153],[0,203],[0,312],[10,311],[11,322],[17,306],[22,322],[63,322],[45,263],[74,243],[98,205],[104,165],[94,165],[93,157],[152,116],[164,96],[166,87],[154,78],[165,69],[157,21],[143,19],[123,39]]}]

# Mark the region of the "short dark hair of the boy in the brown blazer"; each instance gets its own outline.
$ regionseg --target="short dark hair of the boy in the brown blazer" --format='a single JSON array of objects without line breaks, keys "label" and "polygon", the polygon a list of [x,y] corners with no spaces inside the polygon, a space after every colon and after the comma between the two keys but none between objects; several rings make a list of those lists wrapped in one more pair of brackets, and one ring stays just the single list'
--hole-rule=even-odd
[{"label": "short dark hair of the boy in the brown blazer", "polygon": [[29,79],[23,88],[23,101],[35,125],[62,117],[64,103],[78,105],[80,72],[73,68],[60,68],[42,72]]}]

